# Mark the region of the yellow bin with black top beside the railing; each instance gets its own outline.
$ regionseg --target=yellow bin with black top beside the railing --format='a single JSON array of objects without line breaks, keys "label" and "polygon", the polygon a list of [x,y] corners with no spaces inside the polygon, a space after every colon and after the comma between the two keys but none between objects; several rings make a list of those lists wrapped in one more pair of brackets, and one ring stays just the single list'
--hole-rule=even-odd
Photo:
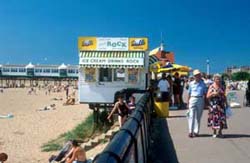
[{"label": "yellow bin with black top beside the railing", "polygon": [[169,93],[154,93],[154,109],[158,117],[166,118],[169,116]]}]

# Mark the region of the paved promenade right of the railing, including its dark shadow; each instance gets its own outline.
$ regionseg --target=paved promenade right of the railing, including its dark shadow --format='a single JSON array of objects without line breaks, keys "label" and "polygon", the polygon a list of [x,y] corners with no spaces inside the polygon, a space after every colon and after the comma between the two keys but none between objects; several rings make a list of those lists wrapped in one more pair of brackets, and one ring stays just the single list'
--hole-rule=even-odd
[{"label": "paved promenade right of the railing, including its dark shadow", "polygon": [[[243,101],[243,91],[237,92]],[[233,109],[228,119],[224,138],[213,138],[207,128],[207,110],[204,110],[200,136],[188,137],[186,110],[170,111],[167,119],[158,119],[160,131],[154,140],[154,163],[249,163],[250,162],[250,108]],[[156,131],[154,131],[156,132]]]}]

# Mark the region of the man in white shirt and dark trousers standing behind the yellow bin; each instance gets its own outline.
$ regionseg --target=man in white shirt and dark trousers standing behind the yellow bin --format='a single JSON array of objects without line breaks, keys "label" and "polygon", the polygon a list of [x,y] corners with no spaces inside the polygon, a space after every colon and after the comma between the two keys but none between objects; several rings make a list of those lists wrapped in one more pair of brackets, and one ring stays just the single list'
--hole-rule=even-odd
[{"label": "man in white shirt and dark trousers standing behind the yellow bin", "polygon": [[170,86],[166,77],[166,73],[162,73],[162,78],[158,83],[158,88],[161,92],[162,100],[168,100]]}]

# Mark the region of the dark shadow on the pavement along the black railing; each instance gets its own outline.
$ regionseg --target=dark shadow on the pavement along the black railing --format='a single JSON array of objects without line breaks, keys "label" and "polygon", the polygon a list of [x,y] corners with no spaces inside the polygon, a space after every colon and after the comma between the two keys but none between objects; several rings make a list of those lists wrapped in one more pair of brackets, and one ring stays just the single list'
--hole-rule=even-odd
[{"label": "dark shadow on the pavement along the black railing", "polygon": [[149,163],[178,163],[174,144],[164,118],[153,119]]}]

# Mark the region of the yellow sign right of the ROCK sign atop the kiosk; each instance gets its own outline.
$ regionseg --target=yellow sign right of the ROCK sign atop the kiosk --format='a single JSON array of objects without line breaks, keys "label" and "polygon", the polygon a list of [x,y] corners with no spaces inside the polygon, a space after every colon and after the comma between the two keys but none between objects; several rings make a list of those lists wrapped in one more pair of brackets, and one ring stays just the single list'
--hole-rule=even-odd
[{"label": "yellow sign right of the ROCK sign atop the kiosk", "polygon": [[129,38],[129,50],[133,51],[148,50],[148,38]]}]

